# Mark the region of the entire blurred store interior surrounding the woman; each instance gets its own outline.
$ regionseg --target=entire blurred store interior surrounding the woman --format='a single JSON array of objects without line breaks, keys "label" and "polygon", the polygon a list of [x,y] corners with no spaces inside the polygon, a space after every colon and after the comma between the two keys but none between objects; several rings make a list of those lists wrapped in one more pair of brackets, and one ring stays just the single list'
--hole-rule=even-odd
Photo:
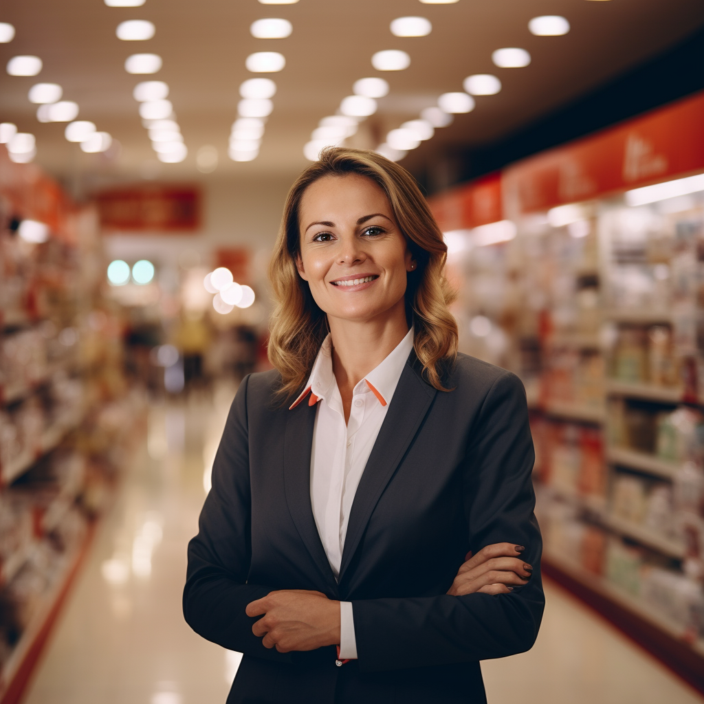
[{"label": "entire blurred store interior surrounding the woman", "polygon": [[0,8],[0,703],[224,702],[185,547],[322,147],[420,183],[522,378],[548,605],[489,701],[704,701],[704,6]]}]

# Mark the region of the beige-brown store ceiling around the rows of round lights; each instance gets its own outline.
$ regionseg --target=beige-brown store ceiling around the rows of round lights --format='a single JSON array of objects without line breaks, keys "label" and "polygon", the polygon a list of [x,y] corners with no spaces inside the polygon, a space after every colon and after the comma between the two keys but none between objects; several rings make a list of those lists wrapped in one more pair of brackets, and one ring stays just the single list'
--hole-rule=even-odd
[{"label": "beige-brown store ceiling around the rows of round lights", "polygon": [[[536,15],[563,15],[571,30],[562,37],[534,37],[527,24]],[[427,37],[398,38],[389,23],[404,15],[431,20]],[[253,20],[287,18],[287,39],[254,39]],[[145,42],[123,42],[115,27],[123,20],[146,19],[156,35]],[[0,44],[0,63],[18,54],[35,54],[44,68],[37,77],[0,75],[0,120],[15,122],[37,137],[35,161],[62,180],[102,184],[142,177],[174,179],[291,174],[303,168],[303,144],[325,115],[334,114],[353,82],[380,75],[391,92],[356,135],[358,146],[373,147],[386,132],[417,117],[439,94],[462,90],[472,73],[494,73],[503,89],[480,96],[476,109],[409,156],[413,163],[452,145],[491,142],[519,130],[540,115],[589,92],[612,77],[677,44],[704,25],[700,0],[459,0],[427,5],[419,0],[300,0],[263,5],[257,0],[146,0],[142,7],[111,8],[103,0],[6,0],[0,21],[16,36]],[[527,68],[501,69],[491,52],[505,46],[527,49]],[[378,72],[370,58],[382,49],[403,49],[410,68]],[[260,156],[249,163],[227,158],[227,140],[237,117],[239,84],[252,77],[244,65],[253,51],[280,51],[287,65],[266,74],[278,87]],[[189,148],[178,164],[160,164],[137,113],[132,89],[140,77],[123,68],[134,53],[163,57],[153,78],[170,86],[170,100]],[[64,99],[80,105],[79,119],[110,132],[120,149],[84,154],[63,137],[61,123],[42,124],[27,92],[36,82],[56,82]],[[208,177],[196,170],[199,147],[218,149],[218,169]]]}]

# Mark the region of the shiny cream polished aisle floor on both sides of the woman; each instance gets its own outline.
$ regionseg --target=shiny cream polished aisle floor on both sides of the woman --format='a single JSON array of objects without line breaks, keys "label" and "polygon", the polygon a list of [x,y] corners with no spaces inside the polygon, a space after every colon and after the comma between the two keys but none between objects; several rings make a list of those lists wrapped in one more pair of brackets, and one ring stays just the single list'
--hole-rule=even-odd
[{"label": "shiny cream polished aisle floor on both sides of the woman", "polygon": [[[186,544],[232,386],[151,409],[23,704],[222,704],[239,656],[181,615]],[[482,663],[490,704],[701,704],[659,662],[558,586],[536,646]]]}]

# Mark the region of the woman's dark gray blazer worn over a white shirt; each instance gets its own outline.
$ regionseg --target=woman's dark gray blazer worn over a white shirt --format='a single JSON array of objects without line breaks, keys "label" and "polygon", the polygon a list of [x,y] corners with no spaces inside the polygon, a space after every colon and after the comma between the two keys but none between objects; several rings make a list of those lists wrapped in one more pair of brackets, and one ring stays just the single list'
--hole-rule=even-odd
[{"label": "woman's dark gray blazer worn over a white shirt", "polygon": [[[244,653],[228,704],[484,703],[479,660],[533,645],[543,613],[533,444],[515,375],[466,355],[422,379],[411,353],[360,481],[339,583],[310,507],[315,407],[288,410],[279,375],[246,377],[188,548],[184,616]],[[447,596],[467,551],[525,546],[533,577],[510,594]],[[275,589],[353,604],[358,660],[335,648],[278,653],[244,609]]]}]

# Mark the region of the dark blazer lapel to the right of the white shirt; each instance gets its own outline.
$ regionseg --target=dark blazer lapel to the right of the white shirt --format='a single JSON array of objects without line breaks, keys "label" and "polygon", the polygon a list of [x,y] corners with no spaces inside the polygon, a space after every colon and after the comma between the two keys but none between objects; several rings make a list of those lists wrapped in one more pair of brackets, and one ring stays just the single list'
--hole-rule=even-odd
[{"label": "dark blazer lapel to the right of the white shirt", "polygon": [[412,352],[408,363],[403,367],[401,379],[398,380],[394,397],[391,398],[389,410],[357,487],[342,550],[340,583],[377,501],[396,472],[398,463],[415,437],[437,393],[436,389],[422,380],[420,370],[414,368],[417,365],[417,358]]}]

